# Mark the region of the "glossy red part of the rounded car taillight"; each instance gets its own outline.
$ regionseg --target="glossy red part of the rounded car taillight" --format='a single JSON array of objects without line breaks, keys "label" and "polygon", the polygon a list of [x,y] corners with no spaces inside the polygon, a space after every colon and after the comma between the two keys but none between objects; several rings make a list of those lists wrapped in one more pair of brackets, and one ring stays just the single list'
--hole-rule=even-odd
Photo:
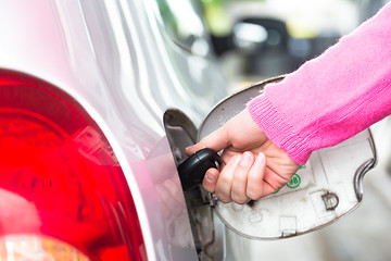
[{"label": "glossy red part of the rounded car taillight", "polygon": [[108,140],[60,89],[0,71],[0,246],[10,237],[53,238],[90,260],[146,259]]}]

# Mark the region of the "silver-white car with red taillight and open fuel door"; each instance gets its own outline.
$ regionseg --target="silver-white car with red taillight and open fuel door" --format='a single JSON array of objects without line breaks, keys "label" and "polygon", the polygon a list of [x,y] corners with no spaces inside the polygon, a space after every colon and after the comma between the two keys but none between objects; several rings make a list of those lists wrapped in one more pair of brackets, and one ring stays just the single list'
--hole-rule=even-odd
[{"label": "silver-white car with red taillight and open fuel door", "polygon": [[185,148],[260,91],[214,107],[228,83],[195,1],[2,1],[0,35],[0,260],[245,260],[227,243],[307,233],[361,202],[369,132],[265,200],[184,192]]}]

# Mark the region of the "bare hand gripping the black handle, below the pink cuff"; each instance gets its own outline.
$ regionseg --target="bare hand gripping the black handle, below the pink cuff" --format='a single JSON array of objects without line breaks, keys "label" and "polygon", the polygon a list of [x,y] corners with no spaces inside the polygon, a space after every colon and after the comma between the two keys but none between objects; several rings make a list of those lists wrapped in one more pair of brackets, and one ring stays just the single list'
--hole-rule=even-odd
[{"label": "bare hand gripping the black handle, below the pink cuff", "polygon": [[202,185],[223,202],[247,203],[285,186],[300,165],[274,145],[245,109],[219,129],[186,149],[192,154],[202,148],[222,153],[220,171],[206,171]]}]

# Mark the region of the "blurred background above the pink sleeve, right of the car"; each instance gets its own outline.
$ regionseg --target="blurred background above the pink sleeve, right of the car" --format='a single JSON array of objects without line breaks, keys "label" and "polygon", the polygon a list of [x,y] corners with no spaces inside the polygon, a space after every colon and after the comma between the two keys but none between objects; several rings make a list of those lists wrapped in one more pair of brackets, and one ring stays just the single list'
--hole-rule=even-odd
[{"label": "blurred background above the pink sleeve, right of the car", "polygon": [[199,0],[232,88],[294,71],[384,0]]}]

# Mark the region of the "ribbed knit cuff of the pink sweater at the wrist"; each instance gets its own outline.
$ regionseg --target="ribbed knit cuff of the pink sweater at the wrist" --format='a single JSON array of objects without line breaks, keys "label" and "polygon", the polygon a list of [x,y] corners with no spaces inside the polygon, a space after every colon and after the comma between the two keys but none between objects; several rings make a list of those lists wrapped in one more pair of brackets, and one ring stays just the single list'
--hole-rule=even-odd
[{"label": "ribbed knit cuff of the pink sweater at the wrist", "polygon": [[275,109],[265,95],[252,99],[247,108],[265,135],[285,150],[298,164],[303,165],[311,156],[305,139],[298,134],[285,116]]}]

